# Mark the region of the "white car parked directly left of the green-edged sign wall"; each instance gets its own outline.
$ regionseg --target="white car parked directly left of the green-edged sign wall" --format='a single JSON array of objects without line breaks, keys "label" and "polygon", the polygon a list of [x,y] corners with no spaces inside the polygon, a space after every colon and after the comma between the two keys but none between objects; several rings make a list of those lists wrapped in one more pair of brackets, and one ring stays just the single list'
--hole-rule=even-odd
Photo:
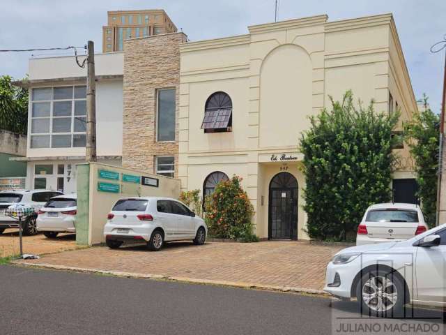
[{"label": "white car parked directly left of the green-edged sign wall", "polygon": [[37,230],[54,239],[59,232],[76,232],[77,197],[75,193],[51,198],[36,219]]}]

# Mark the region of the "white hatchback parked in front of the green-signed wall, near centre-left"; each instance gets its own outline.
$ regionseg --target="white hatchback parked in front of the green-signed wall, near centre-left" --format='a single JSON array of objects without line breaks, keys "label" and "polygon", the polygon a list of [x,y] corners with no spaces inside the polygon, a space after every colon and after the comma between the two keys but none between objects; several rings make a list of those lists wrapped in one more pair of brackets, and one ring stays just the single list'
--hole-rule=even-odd
[{"label": "white hatchback parked in front of the green-signed wall, near centre-left", "polygon": [[208,228],[185,204],[171,198],[122,198],[107,216],[104,236],[109,248],[145,241],[151,251],[164,241],[193,240],[204,244]]}]

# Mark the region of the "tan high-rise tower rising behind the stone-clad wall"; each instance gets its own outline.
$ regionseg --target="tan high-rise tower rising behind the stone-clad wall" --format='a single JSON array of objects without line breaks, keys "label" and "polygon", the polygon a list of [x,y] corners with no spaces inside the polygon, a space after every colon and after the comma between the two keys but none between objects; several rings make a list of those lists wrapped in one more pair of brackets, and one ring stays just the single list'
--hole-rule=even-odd
[{"label": "tan high-rise tower rising behind the stone-clad wall", "polygon": [[123,50],[123,40],[177,31],[162,9],[116,10],[107,12],[107,26],[102,27],[102,52]]}]

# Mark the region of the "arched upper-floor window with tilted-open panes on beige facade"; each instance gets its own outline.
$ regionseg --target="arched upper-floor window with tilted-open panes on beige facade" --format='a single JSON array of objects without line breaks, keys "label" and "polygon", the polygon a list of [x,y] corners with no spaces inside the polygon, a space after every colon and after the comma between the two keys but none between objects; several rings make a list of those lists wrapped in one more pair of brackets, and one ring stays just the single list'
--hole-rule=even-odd
[{"label": "arched upper-floor window with tilted-open panes on beige facade", "polygon": [[205,133],[232,130],[232,101],[228,94],[215,92],[208,98],[201,129],[204,129]]}]

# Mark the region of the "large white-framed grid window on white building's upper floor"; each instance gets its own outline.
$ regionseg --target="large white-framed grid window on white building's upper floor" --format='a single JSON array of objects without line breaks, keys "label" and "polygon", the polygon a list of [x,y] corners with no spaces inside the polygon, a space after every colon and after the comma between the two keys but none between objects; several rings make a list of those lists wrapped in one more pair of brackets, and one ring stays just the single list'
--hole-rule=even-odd
[{"label": "large white-framed grid window on white building's upper floor", "polygon": [[31,91],[31,148],[85,147],[86,86]]}]

